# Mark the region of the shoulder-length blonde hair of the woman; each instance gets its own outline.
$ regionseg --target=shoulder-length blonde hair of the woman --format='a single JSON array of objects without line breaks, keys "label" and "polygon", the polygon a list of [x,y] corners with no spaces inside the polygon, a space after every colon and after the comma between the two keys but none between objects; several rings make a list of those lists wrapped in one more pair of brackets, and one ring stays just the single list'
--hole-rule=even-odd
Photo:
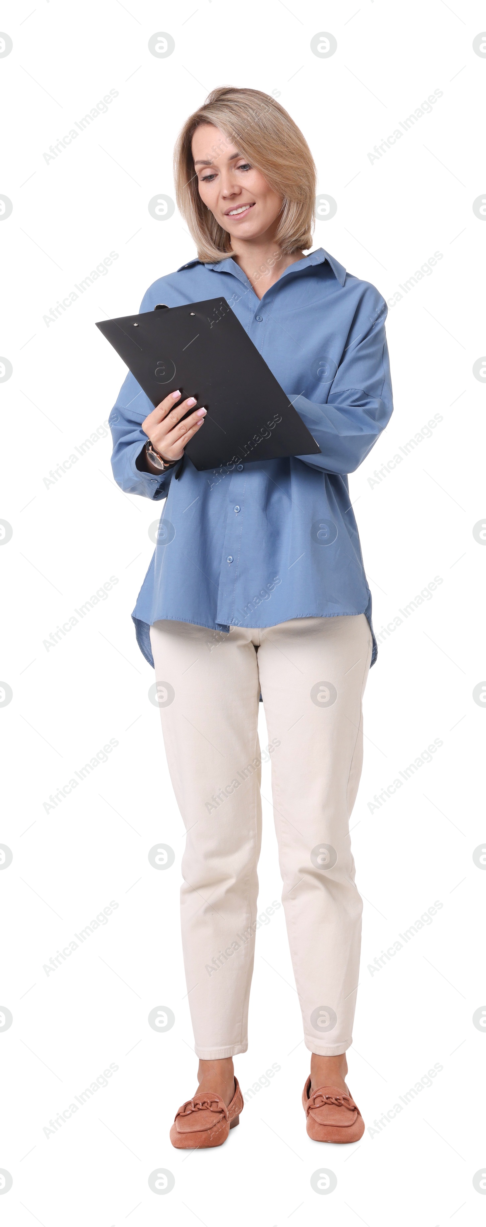
[{"label": "shoulder-length blonde hair of the woman", "polygon": [[[301,129],[270,94],[260,90],[221,86],[212,90],[179,133],[174,148],[174,184],[178,209],[194,238],[202,263],[223,260],[231,252],[227,231],[199,195],[191,140],[201,124],[214,124],[228,142],[261,171],[266,182],[282,196],[275,243],[286,254],[312,247],[317,168]],[[225,148],[220,141],[212,150]]]}]

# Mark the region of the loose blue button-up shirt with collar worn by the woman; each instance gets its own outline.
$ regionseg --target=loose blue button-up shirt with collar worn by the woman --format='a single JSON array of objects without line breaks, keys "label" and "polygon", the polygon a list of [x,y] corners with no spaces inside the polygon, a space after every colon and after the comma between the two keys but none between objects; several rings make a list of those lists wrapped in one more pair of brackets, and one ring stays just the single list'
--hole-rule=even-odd
[{"label": "loose blue button-up shirt with collar worn by the woman", "polygon": [[[319,248],[285,269],[261,299],[232,256],[215,264],[189,260],[150,286],[140,310],[221,296],[322,455],[201,472],[185,456],[178,480],[177,469],[140,472],[141,423],[153,406],[126,375],[109,416],[115,481],[156,502],[167,496],[131,615],[151,665],[148,628],[164,618],[228,632],[231,626],[366,614],[373,634],[346,474],[368,455],[393,411],[384,298]],[[372,664],[376,658],[373,634]]]}]

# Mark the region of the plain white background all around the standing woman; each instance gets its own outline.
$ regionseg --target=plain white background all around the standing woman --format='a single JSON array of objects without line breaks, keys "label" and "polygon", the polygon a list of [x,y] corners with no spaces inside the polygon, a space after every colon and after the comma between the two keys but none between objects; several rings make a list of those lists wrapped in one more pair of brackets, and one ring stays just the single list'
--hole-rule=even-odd
[{"label": "plain white background all around the standing woman", "polygon": [[[472,861],[486,832],[482,791],[469,788],[486,719],[472,699],[486,677],[486,550],[472,536],[486,512],[485,388],[472,374],[485,352],[476,309],[485,227],[472,211],[486,188],[475,130],[486,63],[472,49],[484,9],[459,0],[32,2],[4,5],[14,47],[0,59],[0,193],[14,206],[0,226],[0,352],[14,368],[0,385],[0,518],[14,530],[0,550],[0,675],[12,690],[0,710],[0,839],[14,854],[0,875],[1,1004],[12,1015],[0,1034],[0,1167],[14,1179],[4,1221],[479,1223],[485,1205],[472,1177],[486,1162],[484,1107],[479,1090],[477,1107],[466,1107],[460,1080],[476,1090],[485,1038],[472,1014],[486,1001],[475,948],[485,874]],[[338,40],[329,59],[310,50],[323,29]],[[174,39],[168,58],[148,52],[157,31]],[[54,485],[43,481],[107,421],[124,378],[94,321],[137,310],[157,276],[195,254],[177,211],[161,223],[147,205],[157,193],[173,198],[177,133],[218,85],[279,92],[302,128],[318,190],[338,204],[317,222],[315,248],[387,299],[436,250],[443,256],[389,309],[395,412],[351,477],[376,632],[434,575],[443,580],[384,637],[364,694],[351,820],[363,947],[349,1083],[368,1128],[351,1147],[306,1135],[309,1054],[282,909],[256,934],[250,1044],[236,1064],[243,1093],[272,1063],[280,1070],[223,1147],[191,1153],[169,1144],[176,1110],[196,1085],[178,917],[183,823],[147,697],[153,672],[130,618],[161,506],[115,486],[103,429]],[[109,90],[118,97],[108,113],[47,163],[49,146]],[[373,146],[434,90],[443,96],[432,113],[371,163]],[[112,250],[108,274],[47,326],[44,314]],[[432,438],[371,486],[374,469],[433,413],[443,420]],[[47,650],[43,640],[110,575],[118,584],[107,600]],[[110,739],[118,746],[108,761],[45,812],[49,795]],[[433,762],[372,812],[374,794],[434,739],[443,746]],[[164,872],[147,859],[158,840],[176,853]],[[268,800],[259,876],[263,909],[281,894]],[[107,925],[47,975],[50,957],[112,899]],[[443,906],[431,925],[372,974],[368,964],[436,899]],[[161,1005],[176,1015],[163,1034],[147,1022]],[[118,1070],[108,1086],[47,1137],[49,1119],[110,1063]],[[371,1134],[436,1064],[433,1085]],[[338,1178],[325,1199],[310,1185],[322,1164]],[[158,1167],[176,1179],[163,1198],[147,1183]]]}]

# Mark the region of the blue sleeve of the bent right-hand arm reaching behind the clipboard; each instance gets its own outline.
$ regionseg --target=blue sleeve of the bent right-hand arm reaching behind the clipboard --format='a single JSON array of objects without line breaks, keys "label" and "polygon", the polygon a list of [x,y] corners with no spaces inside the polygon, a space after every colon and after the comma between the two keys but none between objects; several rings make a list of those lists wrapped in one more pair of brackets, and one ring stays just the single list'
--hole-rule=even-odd
[{"label": "blue sleeve of the bent right-hand arm reaching behind the clipboard", "polygon": [[[325,404],[307,400],[306,396],[290,398],[320,447],[320,456],[297,456],[313,469],[353,472],[392,417],[392,378],[384,326],[387,304],[380,298],[372,312],[369,306],[364,302],[363,310],[355,317]],[[364,321],[368,329],[363,329]]]}]

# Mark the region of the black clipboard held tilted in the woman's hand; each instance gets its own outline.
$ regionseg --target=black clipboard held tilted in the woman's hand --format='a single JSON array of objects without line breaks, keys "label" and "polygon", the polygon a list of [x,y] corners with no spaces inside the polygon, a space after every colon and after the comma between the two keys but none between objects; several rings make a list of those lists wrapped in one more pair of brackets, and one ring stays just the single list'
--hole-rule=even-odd
[{"label": "black clipboard held tilted in the woman's hand", "polygon": [[183,399],[196,396],[190,413],[206,407],[185,448],[195,469],[320,453],[226,298],[160,303],[96,326],[152,405],[180,388]]}]

